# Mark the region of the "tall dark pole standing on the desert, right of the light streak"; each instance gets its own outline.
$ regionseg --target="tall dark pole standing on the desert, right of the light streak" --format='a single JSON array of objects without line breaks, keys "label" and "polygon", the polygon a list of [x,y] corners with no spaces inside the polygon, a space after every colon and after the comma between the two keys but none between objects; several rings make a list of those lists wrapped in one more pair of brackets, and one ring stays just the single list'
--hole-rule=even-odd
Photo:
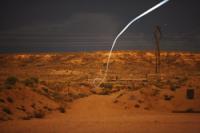
[{"label": "tall dark pole standing on the desert, right of the light streak", "polygon": [[161,39],[161,29],[160,26],[156,26],[154,29],[154,38],[156,43],[155,56],[156,56],[156,74],[160,74],[160,39]]}]

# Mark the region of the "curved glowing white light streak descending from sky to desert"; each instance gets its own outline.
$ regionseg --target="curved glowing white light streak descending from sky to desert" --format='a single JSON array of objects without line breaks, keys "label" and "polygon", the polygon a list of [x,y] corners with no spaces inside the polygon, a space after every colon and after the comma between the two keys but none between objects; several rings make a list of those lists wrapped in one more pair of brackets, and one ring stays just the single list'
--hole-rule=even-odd
[{"label": "curved glowing white light streak descending from sky to desert", "polygon": [[136,18],[134,18],[133,20],[131,20],[123,29],[121,32],[119,32],[119,34],[115,37],[114,41],[113,41],[113,44],[112,44],[112,47],[110,49],[110,52],[109,52],[109,55],[108,55],[108,60],[107,60],[107,64],[106,64],[106,70],[105,70],[105,74],[103,76],[103,78],[96,78],[94,79],[93,83],[95,85],[95,82],[97,80],[100,80],[100,83],[95,86],[96,87],[99,87],[99,85],[101,83],[104,82],[104,80],[106,79],[106,76],[107,76],[107,72],[108,72],[108,69],[109,69],[109,62],[110,62],[110,58],[111,58],[111,55],[112,55],[112,51],[113,51],[113,48],[115,47],[115,43],[117,41],[117,39],[126,31],[126,29],[131,25],[133,24],[135,21],[139,20],[140,18],[142,18],[143,16],[149,14],[150,12],[154,11],[155,9],[161,7],[162,5],[166,4],[167,2],[169,2],[169,0],[163,0],[162,2],[158,3],[157,5],[153,6],[152,8],[148,9],[147,11],[145,11],[144,13],[140,14],[139,16],[137,16]]}]

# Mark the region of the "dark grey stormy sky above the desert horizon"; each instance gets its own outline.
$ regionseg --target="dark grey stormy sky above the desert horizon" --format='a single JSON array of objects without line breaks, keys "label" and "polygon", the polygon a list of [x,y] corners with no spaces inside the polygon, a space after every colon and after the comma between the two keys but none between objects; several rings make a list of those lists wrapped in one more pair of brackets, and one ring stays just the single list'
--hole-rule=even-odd
[{"label": "dark grey stormy sky above the desert horizon", "polygon": [[[109,50],[133,18],[162,0],[2,0],[0,52]],[[200,1],[170,0],[134,23],[115,49],[200,51]]]}]

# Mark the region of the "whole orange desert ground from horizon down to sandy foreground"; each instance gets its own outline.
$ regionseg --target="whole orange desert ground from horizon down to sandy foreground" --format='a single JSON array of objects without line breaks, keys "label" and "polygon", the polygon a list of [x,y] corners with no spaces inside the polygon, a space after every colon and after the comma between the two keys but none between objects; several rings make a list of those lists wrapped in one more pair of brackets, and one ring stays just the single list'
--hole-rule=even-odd
[{"label": "whole orange desert ground from horizon down to sandy foreground", "polygon": [[96,87],[107,57],[0,54],[0,132],[200,132],[200,53],[114,51]]}]

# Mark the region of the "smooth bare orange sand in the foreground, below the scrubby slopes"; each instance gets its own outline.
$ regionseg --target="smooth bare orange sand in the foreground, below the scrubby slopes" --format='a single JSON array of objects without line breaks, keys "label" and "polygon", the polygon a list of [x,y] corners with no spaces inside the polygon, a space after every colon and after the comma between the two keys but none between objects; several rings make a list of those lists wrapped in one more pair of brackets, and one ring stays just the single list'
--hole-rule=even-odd
[{"label": "smooth bare orange sand in the foreground, below the scrubby slopes", "polygon": [[113,95],[76,100],[65,114],[0,123],[1,133],[199,133],[200,114],[134,112],[117,106]]}]

